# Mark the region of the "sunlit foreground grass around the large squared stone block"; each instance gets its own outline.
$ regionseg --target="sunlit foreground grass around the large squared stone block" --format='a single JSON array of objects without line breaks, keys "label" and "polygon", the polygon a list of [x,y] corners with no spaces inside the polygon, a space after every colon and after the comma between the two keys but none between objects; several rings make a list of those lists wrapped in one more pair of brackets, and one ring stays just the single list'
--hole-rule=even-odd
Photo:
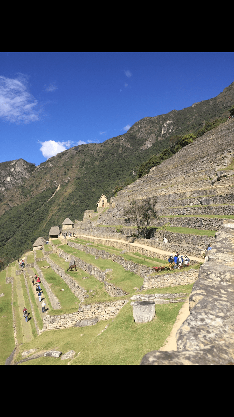
[{"label": "sunlit foreground grass around the large squared stone block", "polygon": [[[190,293],[192,284],[145,291],[154,293]],[[65,353],[74,350],[76,356],[71,364],[139,364],[147,352],[163,346],[169,336],[182,303],[158,304],[152,322],[134,322],[130,302],[124,306],[114,319],[99,321],[95,326],[71,327],[42,333],[30,343],[19,347],[15,362],[22,359],[21,353],[37,347],[40,350],[56,349]],[[102,330],[107,329],[101,333]],[[101,333],[101,334],[100,334]],[[65,365],[69,360],[42,357],[25,364]]]}]

